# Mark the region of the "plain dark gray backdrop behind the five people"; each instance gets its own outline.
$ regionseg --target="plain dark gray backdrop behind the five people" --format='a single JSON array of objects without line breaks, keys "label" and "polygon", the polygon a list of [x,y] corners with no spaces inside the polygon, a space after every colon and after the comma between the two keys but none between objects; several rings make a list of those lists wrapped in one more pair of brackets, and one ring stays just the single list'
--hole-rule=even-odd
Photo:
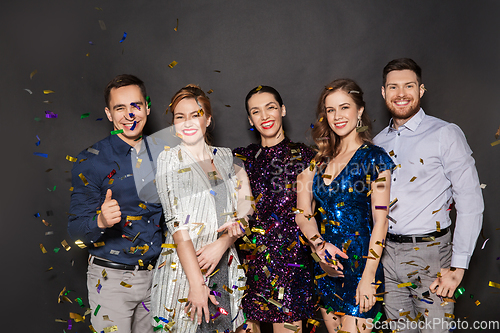
[{"label": "plain dark gray backdrop behind the five people", "polygon": [[[170,122],[165,109],[180,87],[196,83],[213,89],[215,144],[231,148],[255,141],[244,111],[246,93],[271,85],[287,106],[287,135],[311,143],[307,135],[319,92],[339,77],[353,78],[364,89],[375,133],[386,126],[381,71],[397,57],[412,57],[421,65],[428,89],[424,109],[463,129],[481,183],[487,184],[484,228],[462,283],[466,292],[458,299],[456,316],[467,317],[471,325],[474,320],[498,320],[500,290],[488,287],[489,281],[500,283],[500,145],[490,145],[500,125],[495,98],[500,85],[497,1],[2,4],[0,105],[6,144],[2,175],[7,184],[1,201],[2,331],[68,331],[67,324],[55,319],[67,320],[69,312],[83,314],[77,297],[88,305],[86,250],[66,233],[72,163],[65,157],[76,156],[109,134],[102,91],[112,77],[132,73],[146,82],[152,99],[150,132]],[[127,38],[119,43],[124,32]],[[169,68],[172,61],[178,64]],[[44,90],[55,93],[45,95]],[[58,118],[46,119],[47,110]],[[81,119],[84,113],[90,116]],[[48,158],[33,152],[47,153]],[[53,234],[46,235],[48,231]],[[71,250],[63,249],[62,240]],[[42,254],[40,243],[47,254]],[[71,290],[73,304],[57,303],[63,287]],[[73,331],[88,331],[88,318],[85,324],[74,324]]]}]

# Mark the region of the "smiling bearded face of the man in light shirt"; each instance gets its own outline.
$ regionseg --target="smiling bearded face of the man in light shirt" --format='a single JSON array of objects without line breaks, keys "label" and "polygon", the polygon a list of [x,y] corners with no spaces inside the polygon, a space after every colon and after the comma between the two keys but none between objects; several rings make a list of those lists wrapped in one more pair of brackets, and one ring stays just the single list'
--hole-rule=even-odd
[{"label": "smiling bearded face of the man in light shirt", "polygon": [[418,84],[417,74],[409,69],[389,72],[382,87],[387,109],[395,120],[403,123],[420,110],[423,95],[424,85]]}]

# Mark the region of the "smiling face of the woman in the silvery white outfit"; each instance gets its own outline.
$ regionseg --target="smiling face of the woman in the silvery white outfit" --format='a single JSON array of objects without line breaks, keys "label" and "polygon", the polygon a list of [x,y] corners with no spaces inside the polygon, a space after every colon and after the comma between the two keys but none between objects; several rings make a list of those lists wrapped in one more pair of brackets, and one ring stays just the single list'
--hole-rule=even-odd
[{"label": "smiling face of the woman in the silvery white outfit", "polygon": [[188,145],[194,145],[205,140],[207,127],[212,118],[200,111],[200,106],[194,98],[184,98],[175,109],[174,126],[177,135]]}]

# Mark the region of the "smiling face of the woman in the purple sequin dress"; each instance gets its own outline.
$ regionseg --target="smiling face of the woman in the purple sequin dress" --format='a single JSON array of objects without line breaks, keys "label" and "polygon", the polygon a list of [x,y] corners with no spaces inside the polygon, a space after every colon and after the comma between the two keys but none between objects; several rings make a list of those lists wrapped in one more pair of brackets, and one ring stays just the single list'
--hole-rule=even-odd
[{"label": "smiling face of the woman in the purple sequin dress", "polygon": [[282,131],[285,106],[280,106],[273,94],[257,93],[248,100],[248,121],[259,131],[261,138],[276,138]]}]

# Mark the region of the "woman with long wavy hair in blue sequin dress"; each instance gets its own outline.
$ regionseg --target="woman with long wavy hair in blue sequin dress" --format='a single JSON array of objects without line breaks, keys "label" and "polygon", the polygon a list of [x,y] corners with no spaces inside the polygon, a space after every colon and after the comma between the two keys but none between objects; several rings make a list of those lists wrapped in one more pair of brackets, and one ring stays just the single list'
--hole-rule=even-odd
[{"label": "woman with long wavy hair in blue sequin dress", "polygon": [[[380,257],[394,164],[371,144],[361,88],[335,80],[323,90],[313,138],[319,151],[297,179],[296,221],[317,254],[314,275],[329,332],[370,332],[380,311]],[[338,255],[338,256],[337,256]]]}]

